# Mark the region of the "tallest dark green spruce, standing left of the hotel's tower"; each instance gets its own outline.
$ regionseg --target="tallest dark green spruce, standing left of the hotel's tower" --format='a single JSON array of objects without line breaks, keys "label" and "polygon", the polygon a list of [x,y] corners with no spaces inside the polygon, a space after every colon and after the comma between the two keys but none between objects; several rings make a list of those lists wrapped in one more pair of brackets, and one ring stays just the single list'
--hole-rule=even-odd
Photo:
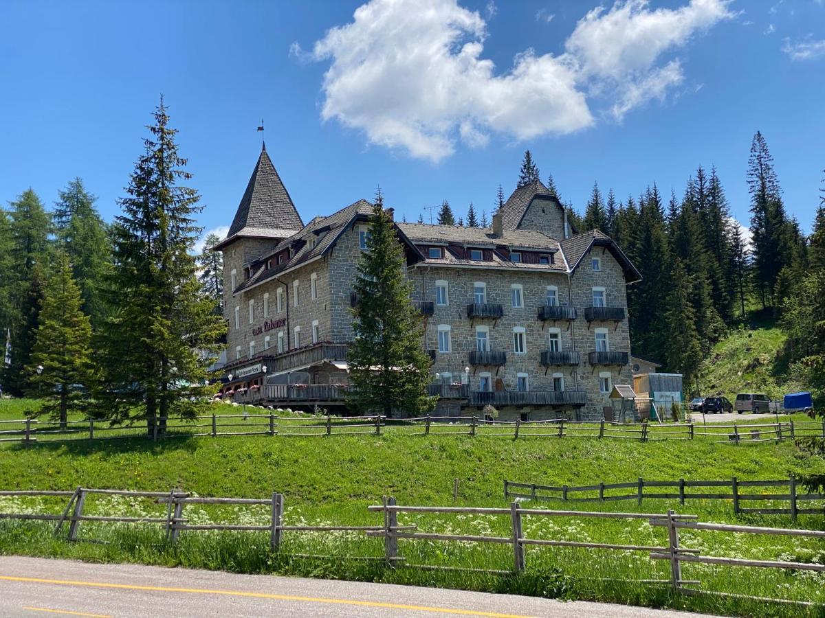
[{"label": "tallest dark green spruce, standing left of the hotel's tower", "polygon": [[164,433],[172,412],[191,418],[214,391],[206,386],[225,325],[215,302],[200,293],[195,258],[200,196],[178,154],[176,129],[163,104],[148,126],[115,218],[114,267],[107,282],[112,315],[104,329],[109,393],[101,414],[113,422],[146,419]]}]

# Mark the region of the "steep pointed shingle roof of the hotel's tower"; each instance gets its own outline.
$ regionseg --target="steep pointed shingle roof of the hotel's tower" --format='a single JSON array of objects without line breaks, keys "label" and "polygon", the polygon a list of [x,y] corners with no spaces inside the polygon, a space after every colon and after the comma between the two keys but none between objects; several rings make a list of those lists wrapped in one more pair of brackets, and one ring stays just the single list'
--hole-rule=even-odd
[{"label": "steep pointed shingle roof of the hotel's tower", "polygon": [[264,145],[229,233],[215,248],[223,248],[238,237],[285,238],[302,227],[304,222]]}]

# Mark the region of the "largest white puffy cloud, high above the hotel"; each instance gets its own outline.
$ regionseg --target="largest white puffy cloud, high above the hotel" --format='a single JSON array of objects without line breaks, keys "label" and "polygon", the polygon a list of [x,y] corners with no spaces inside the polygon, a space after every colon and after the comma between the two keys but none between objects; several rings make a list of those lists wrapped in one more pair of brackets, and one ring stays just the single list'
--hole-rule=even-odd
[{"label": "largest white puffy cloud, high above the hotel", "polygon": [[[488,4],[488,19],[494,6]],[[483,58],[486,21],[458,0],[370,0],[311,52],[294,44],[290,55],[330,61],[324,120],[438,162],[459,140],[479,147],[491,133],[516,140],[563,135],[591,127],[592,106],[606,105],[620,119],[662,100],[683,81],[678,59],[658,65],[662,54],[732,16],[727,0],[655,10],[646,0],[616,2],[582,17],[563,54],[526,49],[497,71]],[[615,91],[622,93],[618,102]]]}]

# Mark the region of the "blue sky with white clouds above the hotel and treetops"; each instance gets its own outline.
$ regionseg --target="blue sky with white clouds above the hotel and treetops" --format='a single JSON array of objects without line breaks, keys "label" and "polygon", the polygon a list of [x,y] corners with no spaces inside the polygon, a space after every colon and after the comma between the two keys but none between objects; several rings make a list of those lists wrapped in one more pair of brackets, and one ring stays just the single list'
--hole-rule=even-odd
[{"label": "blue sky with white clouds above the hotel and treetops", "polygon": [[715,165],[747,222],[759,129],[809,229],[822,0],[360,4],[4,0],[0,199],[31,186],[50,206],[81,176],[111,219],[163,93],[207,229],[233,217],[262,118],[304,220],[379,185],[410,220],[442,199],[489,213],[530,148],[579,210],[594,180],[681,195]]}]

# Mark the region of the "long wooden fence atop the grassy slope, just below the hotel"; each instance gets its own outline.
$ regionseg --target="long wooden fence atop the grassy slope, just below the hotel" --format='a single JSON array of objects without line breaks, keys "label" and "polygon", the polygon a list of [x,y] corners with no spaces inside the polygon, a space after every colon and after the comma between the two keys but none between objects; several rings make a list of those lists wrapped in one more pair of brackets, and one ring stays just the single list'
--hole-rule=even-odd
[{"label": "long wooden fence atop the grassy slope, just below the hotel", "polygon": [[[165,429],[161,429],[161,427]],[[268,414],[208,414],[192,419],[158,418],[151,433],[146,419],[131,424],[112,425],[105,420],[84,419],[59,422],[40,419],[0,420],[0,442],[21,442],[25,446],[38,442],[68,442],[122,438],[192,438],[197,436],[330,436],[357,433],[380,434],[384,429],[424,435],[452,433],[459,435],[503,436],[513,439],[597,438],[636,440],[710,439],[726,444],[780,442],[800,436],[825,438],[825,421],[762,424],[640,424],[606,421],[546,419],[525,421],[484,420],[478,416],[424,416],[415,419],[388,419],[384,416],[278,416]]]}]

